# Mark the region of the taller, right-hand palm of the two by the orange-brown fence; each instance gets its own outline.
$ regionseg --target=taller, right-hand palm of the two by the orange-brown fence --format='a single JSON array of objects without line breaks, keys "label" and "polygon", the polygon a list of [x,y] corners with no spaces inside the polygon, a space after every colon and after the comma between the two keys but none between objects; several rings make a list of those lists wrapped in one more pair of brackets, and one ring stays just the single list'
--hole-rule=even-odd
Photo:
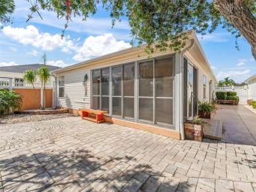
[{"label": "taller, right-hand palm of the two by the orange-brown fence", "polygon": [[43,110],[44,110],[45,109],[45,84],[50,79],[50,71],[46,66],[46,61],[47,61],[46,54],[43,54],[42,61],[43,61],[44,66],[42,66],[41,68],[39,68],[37,70],[37,75],[39,76],[39,79],[43,83]]}]

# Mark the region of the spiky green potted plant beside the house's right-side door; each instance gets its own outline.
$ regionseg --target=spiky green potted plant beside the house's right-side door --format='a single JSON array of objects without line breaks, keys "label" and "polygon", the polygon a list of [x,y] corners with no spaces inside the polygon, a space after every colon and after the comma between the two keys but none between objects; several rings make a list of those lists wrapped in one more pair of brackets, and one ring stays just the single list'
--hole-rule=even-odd
[{"label": "spiky green potted plant beside the house's right-side door", "polygon": [[209,102],[200,102],[198,101],[198,115],[202,118],[211,119],[212,114],[217,110],[216,106],[213,106]]}]

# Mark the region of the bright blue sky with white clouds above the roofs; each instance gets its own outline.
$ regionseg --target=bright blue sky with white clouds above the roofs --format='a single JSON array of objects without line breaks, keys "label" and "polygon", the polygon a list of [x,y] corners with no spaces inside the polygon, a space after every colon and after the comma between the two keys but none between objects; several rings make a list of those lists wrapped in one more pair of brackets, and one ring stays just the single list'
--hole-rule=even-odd
[{"label": "bright blue sky with white clouds above the roofs", "polygon": [[[34,18],[26,22],[29,8],[27,1],[17,0],[14,23],[1,29],[0,66],[41,63],[45,52],[47,64],[65,67],[129,47],[128,21],[124,19],[112,28],[109,13],[101,5],[86,22],[74,18],[64,39],[60,37],[64,19],[58,20],[54,12],[41,10],[43,20],[33,14]],[[240,51],[236,50],[234,36],[222,28],[203,38],[198,34],[198,39],[218,80],[230,77],[243,82],[256,73],[256,62],[245,39],[238,41]]]}]

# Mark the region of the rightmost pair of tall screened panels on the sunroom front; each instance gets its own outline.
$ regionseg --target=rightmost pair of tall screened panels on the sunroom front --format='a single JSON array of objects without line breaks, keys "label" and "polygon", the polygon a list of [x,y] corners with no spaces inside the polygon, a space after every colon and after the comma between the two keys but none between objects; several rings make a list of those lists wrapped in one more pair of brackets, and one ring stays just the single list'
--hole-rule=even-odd
[{"label": "rightmost pair of tall screened panels on the sunroom front", "polygon": [[173,58],[139,62],[138,119],[173,125]]}]

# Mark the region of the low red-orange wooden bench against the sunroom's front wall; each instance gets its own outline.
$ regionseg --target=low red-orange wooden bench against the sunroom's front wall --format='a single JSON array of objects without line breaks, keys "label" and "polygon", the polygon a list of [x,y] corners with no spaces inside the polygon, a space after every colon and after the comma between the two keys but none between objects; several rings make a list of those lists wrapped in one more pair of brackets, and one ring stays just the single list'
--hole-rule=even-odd
[{"label": "low red-orange wooden bench against the sunroom's front wall", "polygon": [[[89,121],[93,121],[96,123],[102,123],[104,122],[104,118],[103,115],[104,113],[108,113],[108,111],[100,111],[100,110],[95,110],[95,109],[79,109],[79,111],[81,111],[81,117],[82,119],[87,119]],[[91,115],[91,114],[95,114],[95,115]]]}]

